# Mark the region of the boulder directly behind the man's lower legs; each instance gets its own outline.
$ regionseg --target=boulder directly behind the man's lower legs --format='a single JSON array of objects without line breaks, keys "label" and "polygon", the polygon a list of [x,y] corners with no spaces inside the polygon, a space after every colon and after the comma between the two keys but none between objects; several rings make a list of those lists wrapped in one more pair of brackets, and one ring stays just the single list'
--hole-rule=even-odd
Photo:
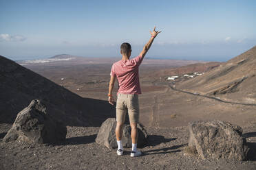
[{"label": "boulder directly behind the man's lower legs", "polygon": [[[103,122],[98,131],[96,143],[105,145],[109,149],[117,148],[116,143],[116,119],[109,118]],[[147,132],[138,124],[138,147],[143,147],[147,143]],[[122,132],[122,146],[131,147],[131,126],[124,125]]]}]

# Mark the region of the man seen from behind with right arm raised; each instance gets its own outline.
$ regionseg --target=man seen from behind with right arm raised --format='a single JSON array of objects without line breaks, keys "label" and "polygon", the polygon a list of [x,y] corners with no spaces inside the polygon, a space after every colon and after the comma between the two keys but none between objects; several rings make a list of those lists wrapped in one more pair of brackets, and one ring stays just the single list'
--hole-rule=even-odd
[{"label": "man seen from behind with right arm raised", "polygon": [[116,141],[118,143],[118,155],[122,155],[123,153],[121,141],[122,127],[125,123],[125,114],[127,111],[131,125],[131,157],[141,155],[141,151],[138,151],[137,149],[137,123],[139,121],[138,95],[141,94],[138,69],[147,51],[149,51],[153,40],[159,33],[160,32],[156,31],[156,27],[154,27],[153,32],[150,32],[151,38],[142,49],[140,55],[131,60],[129,59],[131,56],[131,45],[127,42],[122,43],[120,47],[122,60],[115,62],[112,65],[108,96],[109,104],[114,105],[112,91],[114,88],[114,82],[117,78],[119,84],[117,94],[118,98],[116,101]]}]

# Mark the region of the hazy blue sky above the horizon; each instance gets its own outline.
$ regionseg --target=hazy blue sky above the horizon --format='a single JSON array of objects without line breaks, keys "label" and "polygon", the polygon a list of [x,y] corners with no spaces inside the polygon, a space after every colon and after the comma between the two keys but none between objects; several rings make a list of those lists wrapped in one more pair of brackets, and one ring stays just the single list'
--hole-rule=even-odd
[{"label": "hazy blue sky above the horizon", "polygon": [[0,55],[12,60],[68,53],[138,56],[156,26],[148,58],[227,61],[256,45],[256,1],[0,0]]}]

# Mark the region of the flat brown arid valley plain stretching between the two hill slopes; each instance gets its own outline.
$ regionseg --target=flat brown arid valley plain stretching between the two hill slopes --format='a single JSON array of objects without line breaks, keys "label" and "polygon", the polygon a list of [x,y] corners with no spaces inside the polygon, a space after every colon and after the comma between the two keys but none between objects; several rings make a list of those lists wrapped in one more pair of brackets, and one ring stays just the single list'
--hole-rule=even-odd
[{"label": "flat brown arid valley plain stretching between the two hill slopes", "polygon": [[[72,56],[64,55],[64,58]],[[111,64],[117,60],[119,58],[74,58],[24,66],[81,97],[107,100]],[[140,122],[147,127],[179,127],[195,120],[220,119],[241,126],[256,121],[255,106],[225,104],[215,99],[175,91],[169,87],[170,84],[179,84],[203,76],[200,74],[220,64],[223,63],[146,58],[140,66]],[[184,76],[193,73],[198,75]],[[167,80],[171,76],[179,77]],[[118,82],[115,84],[116,93]]]}]

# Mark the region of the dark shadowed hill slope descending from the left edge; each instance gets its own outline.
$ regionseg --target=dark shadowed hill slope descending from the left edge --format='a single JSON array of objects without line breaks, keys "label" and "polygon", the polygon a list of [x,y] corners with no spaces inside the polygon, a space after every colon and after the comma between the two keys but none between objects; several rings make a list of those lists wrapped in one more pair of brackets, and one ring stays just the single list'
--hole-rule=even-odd
[{"label": "dark shadowed hill slope descending from the left edge", "polygon": [[43,99],[66,125],[98,126],[114,117],[107,101],[80,97],[47,78],[0,56],[0,123],[12,123],[32,99]]}]

